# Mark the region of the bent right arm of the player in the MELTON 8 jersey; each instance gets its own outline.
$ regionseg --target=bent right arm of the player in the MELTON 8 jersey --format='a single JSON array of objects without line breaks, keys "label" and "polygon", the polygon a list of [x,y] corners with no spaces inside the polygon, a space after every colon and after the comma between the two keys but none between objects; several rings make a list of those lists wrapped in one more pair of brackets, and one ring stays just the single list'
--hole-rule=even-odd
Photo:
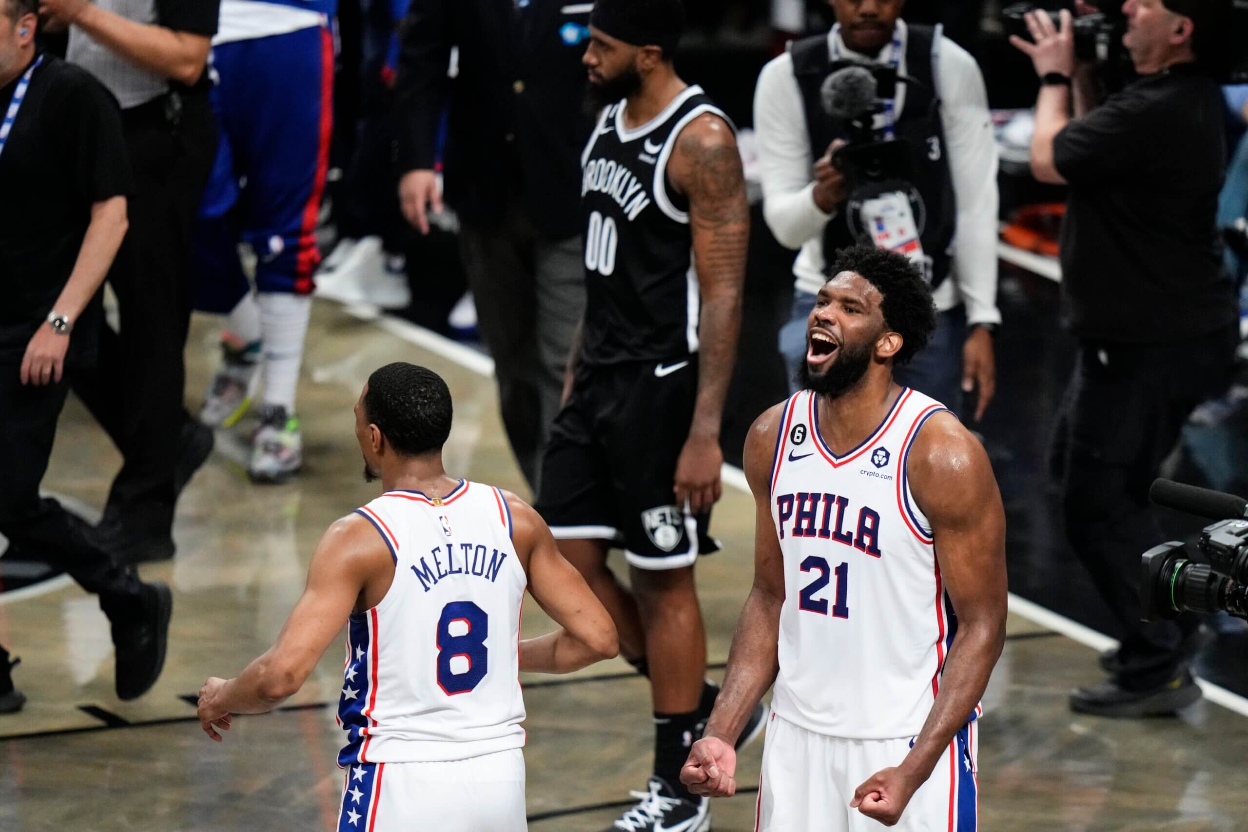
[{"label": "bent right arm of the player in the MELTON 8 jersey", "polygon": [[559,629],[520,641],[520,670],[570,674],[619,652],[612,616],[564,560],[538,513],[514,494],[507,495],[514,541],[529,576],[529,594]]}]

